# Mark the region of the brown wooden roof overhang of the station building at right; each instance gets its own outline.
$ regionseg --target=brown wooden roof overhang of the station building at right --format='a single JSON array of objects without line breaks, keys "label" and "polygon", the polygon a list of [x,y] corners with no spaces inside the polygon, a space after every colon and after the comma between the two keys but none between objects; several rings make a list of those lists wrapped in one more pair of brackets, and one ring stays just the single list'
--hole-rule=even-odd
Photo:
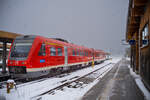
[{"label": "brown wooden roof overhang of the station building at right", "polygon": [[126,41],[132,39],[135,32],[139,31],[140,19],[144,15],[144,8],[148,0],[129,0]]}]

